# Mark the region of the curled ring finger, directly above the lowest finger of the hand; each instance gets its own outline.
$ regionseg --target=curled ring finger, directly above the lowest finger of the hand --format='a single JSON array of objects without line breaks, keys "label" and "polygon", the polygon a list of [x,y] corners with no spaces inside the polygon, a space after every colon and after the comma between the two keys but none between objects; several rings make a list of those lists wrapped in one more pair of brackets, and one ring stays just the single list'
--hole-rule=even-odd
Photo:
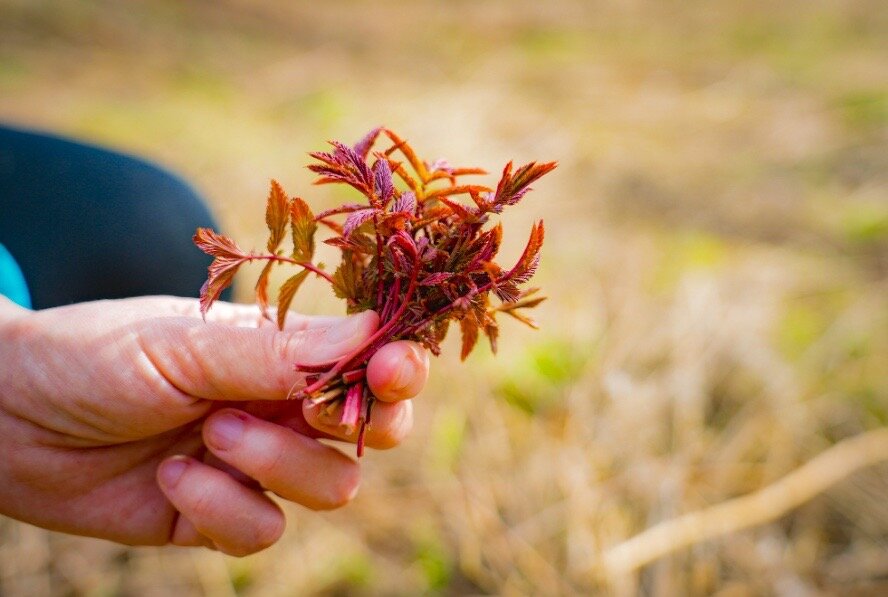
[{"label": "curled ring finger, directly above the lowest finger of the hand", "polygon": [[217,458],[313,510],[338,508],[357,493],[357,463],[287,427],[229,408],[207,418],[203,436]]}]

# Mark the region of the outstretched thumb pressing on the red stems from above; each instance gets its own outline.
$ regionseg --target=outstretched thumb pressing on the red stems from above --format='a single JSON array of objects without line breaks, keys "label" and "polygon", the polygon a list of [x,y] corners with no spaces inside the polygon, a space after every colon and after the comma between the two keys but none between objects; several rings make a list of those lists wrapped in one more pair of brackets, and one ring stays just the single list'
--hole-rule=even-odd
[{"label": "outstretched thumb pressing on the red stems from above", "polygon": [[207,400],[284,400],[305,376],[294,363],[323,363],[347,355],[379,325],[374,311],[331,318],[299,332],[242,328],[169,318],[140,324],[142,352],[181,392]]}]

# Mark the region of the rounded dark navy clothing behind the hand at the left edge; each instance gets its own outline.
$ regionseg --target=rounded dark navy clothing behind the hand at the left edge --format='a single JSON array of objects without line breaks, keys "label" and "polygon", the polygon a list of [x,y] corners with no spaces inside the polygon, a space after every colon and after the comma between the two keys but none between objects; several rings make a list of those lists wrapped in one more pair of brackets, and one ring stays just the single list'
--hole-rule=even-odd
[{"label": "rounded dark navy clothing behind the hand at the left edge", "polygon": [[0,243],[34,308],[147,294],[197,296],[216,227],[198,194],[144,160],[0,127]]}]

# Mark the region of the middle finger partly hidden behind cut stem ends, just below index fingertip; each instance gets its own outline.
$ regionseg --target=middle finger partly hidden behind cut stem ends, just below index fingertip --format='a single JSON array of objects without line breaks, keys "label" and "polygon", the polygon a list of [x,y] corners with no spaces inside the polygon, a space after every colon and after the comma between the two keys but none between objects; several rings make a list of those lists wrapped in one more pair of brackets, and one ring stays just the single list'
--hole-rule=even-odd
[{"label": "middle finger partly hidden behind cut stem ends, just below index fingertip", "polygon": [[[325,435],[354,443],[358,439],[358,430],[350,430],[339,424],[342,405],[327,412],[326,405],[312,406],[307,400],[302,403],[302,414],[305,421]],[[370,424],[364,435],[364,443],[377,450],[394,448],[407,437],[413,428],[413,402],[379,402],[373,405]]]}]

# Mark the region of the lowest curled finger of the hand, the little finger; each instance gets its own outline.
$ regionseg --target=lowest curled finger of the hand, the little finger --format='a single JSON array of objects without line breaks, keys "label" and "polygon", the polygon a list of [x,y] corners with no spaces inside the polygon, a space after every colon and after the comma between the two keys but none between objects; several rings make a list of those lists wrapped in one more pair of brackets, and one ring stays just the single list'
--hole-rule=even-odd
[{"label": "lowest curled finger of the hand, the little finger", "polygon": [[265,549],[284,532],[284,515],[268,497],[193,458],[163,461],[157,481],[182,515],[172,535],[177,545],[203,545],[205,537],[227,554],[244,556]]}]

